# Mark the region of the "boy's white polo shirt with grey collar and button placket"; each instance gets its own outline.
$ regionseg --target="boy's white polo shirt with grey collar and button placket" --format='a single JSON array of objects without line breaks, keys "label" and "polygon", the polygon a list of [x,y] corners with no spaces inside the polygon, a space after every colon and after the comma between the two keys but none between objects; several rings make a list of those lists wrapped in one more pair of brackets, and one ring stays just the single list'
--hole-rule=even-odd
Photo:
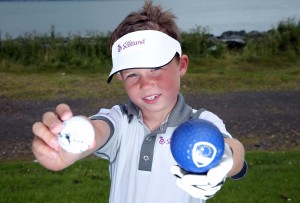
[{"label": "boy's white polo shirt with grey collar and button placket", "polygon": [[176,185],[169,172],[176,162],[170,151],[172,133],[191,117],[213,122],[225,137],[231,137],[223,121],[205,109],[195,110],[181,94],[161,126],[153,132],[143,123],[132,102],[101,109],[91,119],[104,120],[111,128],[107,143],[94,154],[110,161],[111,203],[200,203]]}]

